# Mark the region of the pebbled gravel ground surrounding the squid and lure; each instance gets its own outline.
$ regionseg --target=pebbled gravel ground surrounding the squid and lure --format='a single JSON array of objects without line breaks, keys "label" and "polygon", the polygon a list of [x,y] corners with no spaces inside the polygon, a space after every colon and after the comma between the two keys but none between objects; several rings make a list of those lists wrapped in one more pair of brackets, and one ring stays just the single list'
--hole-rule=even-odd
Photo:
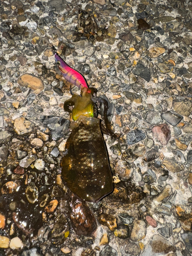
[{"label": "pebbled gravel ground surrounding the squid and lure", "polygon": [[[189,0],[0,1],[1,256],[191,255],[191,22]],[[98,203],[61,176],[71,84],[52,45],[121,135],[103,135],[115,189]]]}]

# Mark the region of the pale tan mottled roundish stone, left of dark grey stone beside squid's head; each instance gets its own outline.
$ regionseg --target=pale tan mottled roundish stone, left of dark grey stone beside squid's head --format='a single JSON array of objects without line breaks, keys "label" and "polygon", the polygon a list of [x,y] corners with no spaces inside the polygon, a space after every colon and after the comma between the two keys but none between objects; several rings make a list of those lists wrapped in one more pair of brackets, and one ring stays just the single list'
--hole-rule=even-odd
[{"label": "pale tan mottled roundish stone, left of dark grey stone beside squid's head", "polygon": [[18,117],[14,121],[14,128],[18,135],[24,135],[33,131],[34,123],[25,117]]}]

